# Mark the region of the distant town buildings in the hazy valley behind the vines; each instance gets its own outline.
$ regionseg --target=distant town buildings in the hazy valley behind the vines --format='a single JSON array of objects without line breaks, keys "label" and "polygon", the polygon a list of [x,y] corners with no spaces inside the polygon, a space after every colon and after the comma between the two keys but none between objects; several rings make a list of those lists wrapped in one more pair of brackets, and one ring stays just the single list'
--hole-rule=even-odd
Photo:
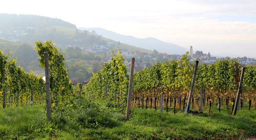
[{"label": "distant town buildings in the hazy valley behind the vines", "polygon": [[[111,53],[111,45],[113,45],[113,42],[108,41],[107,45],[88,45],[88,46],[84,46],[81,47],[81,50],[83,53],[94,53],[94,54],[101,54],[101,55],[110,55]],[[154,50],[156,51],[156,50]],[[141,69],[151,66],[152,64],[154,64],[155,62],[161,62],[161,61],[157,61],[157,58],[161,58],[163,61],[167,61],[169,59],[174,59],[174,60],[180,60],[182,58],[182,55],[169,55],[169,54],[165,54],[165,53],[158,53],[156,51],[156,53],[152,53],[152,54],[148,54],[148,53],[141,53],[141,52],[134,52],[134,51],[130,51],[128,49],[121,49],[122,55],[123,57],[126,59],[125,62],[127,64],[127,66],[130,65],[130,59],[131,57],[135,57],[137,59],[141,59],[141,58],[147,58],[150,59],[148,60],[148,62],[142,62],[142,61],[136,61],[135,62],[135,72],[140,71]],[[216,63],[218,60],[223,60],[223,59],[231,59],[230,57],[221,57],[221,58],[217,58],[215,56],[211,56],[210,53],[205,54],[202,51],[196,51],[196,53],[193,53],[193,46],[190,46],[190,51],[189,51],[189,57],[190,61],[194,61],[196,59],[200,59],[200,64],[202,63]],[[256,64],[256,59],[255,58],[247,58],[247,57],[238,57],[238,58],[234,58],[236,60],[240,60],[240,64],[243,65],[253,65]],[[105,60],[104,62],[109,62],[111,61],[111,57],[109,57],[109,59]],[[162,61],[162,62],[163,62]]]}]

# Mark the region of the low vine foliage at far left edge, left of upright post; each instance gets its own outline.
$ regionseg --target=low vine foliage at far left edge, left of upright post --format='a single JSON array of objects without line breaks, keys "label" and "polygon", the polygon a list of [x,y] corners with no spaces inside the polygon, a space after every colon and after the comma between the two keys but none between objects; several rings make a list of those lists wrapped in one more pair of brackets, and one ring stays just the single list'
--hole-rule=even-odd
[{"label": "low vine foliage at far left edge, left of upright post", "polygon": [[[11,52],[10,52],[11,53]],[[45,102],[45,84],[33,72],[27,73],[15,65],[16,59],[9,59],[0,50],[0,104],[4,107],[39,104]]]}]

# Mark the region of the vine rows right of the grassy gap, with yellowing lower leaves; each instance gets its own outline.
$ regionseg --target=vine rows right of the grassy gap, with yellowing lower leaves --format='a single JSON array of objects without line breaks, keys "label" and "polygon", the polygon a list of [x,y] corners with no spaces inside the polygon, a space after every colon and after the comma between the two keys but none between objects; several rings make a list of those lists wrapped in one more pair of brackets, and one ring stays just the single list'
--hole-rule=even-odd
[{"label": "vine rows right of the grassy gap, with yellowing lower leaves", "polygon": [[[108,64],[91,78],[89,84],[83,86],[83,92],[86,95],[93,96],[99,101],[104,101],[110,107],[119,107],[124,110],[127,100],[127,91],[129,87],[129,76],[127,76],[126,67],[123,63],[120,52],[112,58]],[[134,74],[132,88],[133,106],[148,108],[155,107],[161,103],[161,95],[165,103],[166,112],[168,106],[174,106],[183,111],[187,103],[193,67],[195,62],[190,62],[188,53],[183,55],[181,60],[169,60],[164,63],[156,63],[151,67],[144,68]],[[218,61],[216,64],[201,64],[198,66],[196,82],[192,98],[192,108],[194,102],[202,106],[211,106],[218,104],[219,111],[224,105],[228,109],[234,109],[234,102],[240,82],[242,65],[234,59]],[[245,100],[248,100],[249,110],[252,100],[256,97],[256,66],[246,66],[243,79],[243,88],[240,94],[241,108]],[[202,103],[200,102],[202,98]],[[145,103],[145,104],[144,104]],[[179,107],[177,107],[177,103]],[[160,105],[159,105],[160,106]],[[202,108],[201,106],[201,108]],[[199,107],[200,108],[200,107]],[[224,109],[224,107],[223,107]],[[200,109],[202,110],[202,109]],[[232,111],[231,111],[232,112]]]}]

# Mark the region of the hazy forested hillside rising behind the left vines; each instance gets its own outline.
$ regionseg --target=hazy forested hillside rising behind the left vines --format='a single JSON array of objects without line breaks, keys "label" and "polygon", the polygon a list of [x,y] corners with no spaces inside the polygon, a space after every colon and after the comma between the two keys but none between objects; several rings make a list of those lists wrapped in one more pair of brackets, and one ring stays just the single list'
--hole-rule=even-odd
[{"label": "hazy forested hillside rising behind the left vines", "polygon": [[[35,50],[36,41],[52,40],[65,56],[66,68],[71,79],[88,80],[91,72],[102,66],[111,49],[128,49],[135,52],[152,53],[129,44],[120,43],[57,18],[36,15],[0,14],[0,48],[4,54],[11,52],[17,57],[17,65],[25,71],[40,71]],[[99,47],[106,48],[101,50]],[[98,50],[95,51],[95,48]],[[92,52],[82,53],[85,49]],[[97,52],[98,51],[98,52]]]}]

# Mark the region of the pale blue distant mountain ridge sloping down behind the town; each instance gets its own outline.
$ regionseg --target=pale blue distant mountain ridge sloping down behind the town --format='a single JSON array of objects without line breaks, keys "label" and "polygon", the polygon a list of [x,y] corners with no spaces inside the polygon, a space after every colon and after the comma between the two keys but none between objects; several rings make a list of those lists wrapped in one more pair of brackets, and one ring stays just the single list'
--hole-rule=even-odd
[{"label": "pale blue distant mountain ridge sloping down behind the town", "polygon": [[[127,35],[121,35],[117,34],[112,31],[108,31],[102,28],[78,28],[80,30],[88,30],[92,32],[93,30],[96,32],[98,35],[102,35],[106,38],[110,38],[116,41],[120,41],[126,44],[131,44],[134,46],[138,46],[143,49],[147,50],[157,50],[158,52],[161,53],[167,53],[167,54],[184,54],[188,50],[183,48],[182,46],[179,46],[177,44],[173,43],[167,43],[161,40],[158,40],[153,37],[148,37],[148,38],[136,38],[133,36],[127,36]],[[94,32],[93,31],[93,32]]]}]

